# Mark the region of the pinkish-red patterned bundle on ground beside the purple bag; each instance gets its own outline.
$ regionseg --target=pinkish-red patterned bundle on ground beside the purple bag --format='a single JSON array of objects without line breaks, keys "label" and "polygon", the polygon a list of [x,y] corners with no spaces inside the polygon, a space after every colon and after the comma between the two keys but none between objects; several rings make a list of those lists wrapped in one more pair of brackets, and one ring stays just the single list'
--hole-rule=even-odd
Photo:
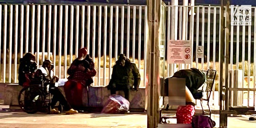
[{"label": "pinkish-red patterned bundle on ground beside the purple bag", "polygon": [[195,108],[192,105],[178,106],[176,117],[177,124],[191,124],[192,116],[195,114]]}]

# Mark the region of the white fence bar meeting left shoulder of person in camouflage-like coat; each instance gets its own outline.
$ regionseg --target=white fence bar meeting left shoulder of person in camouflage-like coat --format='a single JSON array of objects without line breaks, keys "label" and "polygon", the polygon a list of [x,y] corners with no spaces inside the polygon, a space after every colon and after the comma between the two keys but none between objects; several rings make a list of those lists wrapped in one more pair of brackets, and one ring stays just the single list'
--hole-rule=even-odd
[{"label": "white fence bar meeting left shoulder of person in camouflage-like coat", "polygon": [[115,28],[115,59],[118,59],[118,6],[116,6],[116,28]]}]

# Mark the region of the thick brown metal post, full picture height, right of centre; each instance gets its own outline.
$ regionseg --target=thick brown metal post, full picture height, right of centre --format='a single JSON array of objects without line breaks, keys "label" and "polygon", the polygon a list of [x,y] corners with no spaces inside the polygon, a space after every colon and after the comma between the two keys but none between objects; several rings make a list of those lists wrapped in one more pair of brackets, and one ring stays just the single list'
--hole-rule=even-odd
[{"label": "thick brown metal post, full picture height, right of centre", "polygon": [[148,109],[147,109],[147,128],[157,128],[159,123],[159,96],[160,96],[160,83],[159,83],[159,23],[160,23],[160,6],[161,0],[147,0],[148,8],[148,56],[147,62],[147,76],[148,84]]}]

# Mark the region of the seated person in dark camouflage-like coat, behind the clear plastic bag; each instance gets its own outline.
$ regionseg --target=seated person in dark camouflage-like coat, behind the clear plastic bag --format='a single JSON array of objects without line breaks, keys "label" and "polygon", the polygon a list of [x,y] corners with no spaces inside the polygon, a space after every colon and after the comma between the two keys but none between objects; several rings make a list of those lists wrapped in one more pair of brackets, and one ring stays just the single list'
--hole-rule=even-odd
[{"label": "seated person in dark camouflage-like coat, behind the clear plastic bag", "polygon": [[124,91],[124,98],[129,100],[130,89],[134,86],[137,91],[140,86],[140,72],[135,63],[132,63],[124,54],[120,54],[113,66],[111,80],[107,86],[110,94],[117,90]]}]

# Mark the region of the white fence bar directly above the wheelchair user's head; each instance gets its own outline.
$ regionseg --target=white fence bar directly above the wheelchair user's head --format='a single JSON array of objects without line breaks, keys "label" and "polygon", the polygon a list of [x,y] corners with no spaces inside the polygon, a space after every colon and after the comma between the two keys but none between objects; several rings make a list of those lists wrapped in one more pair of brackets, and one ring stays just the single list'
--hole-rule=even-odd
[{"label": "white fence bar directly above the wheelchair user's head", "polygon": [[47,57],[51,60],[51,27],[52,27],[52,5],[48,6],[48,40],[47,40]]}]

